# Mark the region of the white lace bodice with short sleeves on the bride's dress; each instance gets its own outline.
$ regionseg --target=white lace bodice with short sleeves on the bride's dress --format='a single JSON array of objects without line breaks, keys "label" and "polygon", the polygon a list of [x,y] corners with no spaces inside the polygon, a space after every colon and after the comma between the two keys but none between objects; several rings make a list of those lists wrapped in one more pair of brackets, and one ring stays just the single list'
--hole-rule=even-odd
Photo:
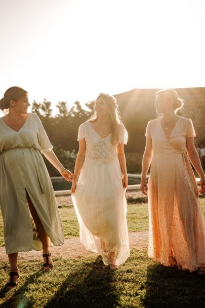
[{"label": "white lace bodice with short sleeves on the bride's dress", "polygon": [[[116,147],[111,143],[111,134],[100,137],[90,122],[80,125],[78,138],[86,139],[86,158],[93,164],[110,164],[117,158]],[[123,124],[119,124],[119,143],[127,144],[128,132]]]}]

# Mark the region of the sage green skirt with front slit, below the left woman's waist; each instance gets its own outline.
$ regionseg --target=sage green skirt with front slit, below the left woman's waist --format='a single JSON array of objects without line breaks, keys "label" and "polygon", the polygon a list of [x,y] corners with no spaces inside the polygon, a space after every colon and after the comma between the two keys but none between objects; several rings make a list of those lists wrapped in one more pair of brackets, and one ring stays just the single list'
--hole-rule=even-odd
[{"label": "sage green skirt with front slit, below the left woman's waist", "polygon": [[26,191],[50,238],[50,245],[62,245],[61,218],[40,152],[33,148],[8,150],[0,156],[0,170],[0,205],[6,253],[42,250],[42,242],[33,236]]}]

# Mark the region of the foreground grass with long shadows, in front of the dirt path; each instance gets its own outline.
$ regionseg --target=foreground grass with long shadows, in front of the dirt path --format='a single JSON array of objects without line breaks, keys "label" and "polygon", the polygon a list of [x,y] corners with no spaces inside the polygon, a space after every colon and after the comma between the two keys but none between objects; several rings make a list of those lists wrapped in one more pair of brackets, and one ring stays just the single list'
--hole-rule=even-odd
[{"label": "foreground grass with long shadows, in front of the dirt path", "polygon": [[50,273],[40,271],[36,261],[21,261],[18,287],[3,291],[9,271],[0,267],[0,305],[14,307],[136,308],[203,307],[204,280],[194,273],[165,267],[133,250],[118,271],[104,266],[98,256],[54,259]]}]

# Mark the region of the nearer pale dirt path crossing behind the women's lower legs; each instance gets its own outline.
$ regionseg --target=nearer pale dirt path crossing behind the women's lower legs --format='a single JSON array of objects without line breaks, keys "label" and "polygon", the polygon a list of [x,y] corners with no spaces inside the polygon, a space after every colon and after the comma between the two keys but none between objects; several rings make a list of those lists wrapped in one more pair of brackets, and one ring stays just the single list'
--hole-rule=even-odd
[{"label": "nearer pale dirt path crossing behind the women's lower legs", "polygon": [[[143,249],[148,247],[148,231],[142,232],[132,232],[129,234],[130,240],[130,248],[138,248]],[[89,256],[96,255],[94,252],[87,251],[80,243],[78,237],[65,239],[64,245],[51,247],[51,253],[53,258],[72,258],[72,257],[81,257],[81,256]],[[20,252],[19,260],[41,260],[42,259],[42,251],[28,251],[28,252]],[[8,260],[6,255],[6,251],[4,247],[0,247],[0,260]]]}]

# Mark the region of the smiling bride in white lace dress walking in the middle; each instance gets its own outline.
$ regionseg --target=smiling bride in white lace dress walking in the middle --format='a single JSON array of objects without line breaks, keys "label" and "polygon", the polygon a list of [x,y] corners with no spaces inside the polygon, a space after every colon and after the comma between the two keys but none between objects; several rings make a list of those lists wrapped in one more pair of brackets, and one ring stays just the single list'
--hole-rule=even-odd
[{"label": "smiling bride in white lace dress walking in the middle", "polygon": [[128,133],[113,96],[100,93],[93,117],[79,127],[78,140],[71,193],[80,241],[115,270],[130,256],[130,249],[124,153]]}]

